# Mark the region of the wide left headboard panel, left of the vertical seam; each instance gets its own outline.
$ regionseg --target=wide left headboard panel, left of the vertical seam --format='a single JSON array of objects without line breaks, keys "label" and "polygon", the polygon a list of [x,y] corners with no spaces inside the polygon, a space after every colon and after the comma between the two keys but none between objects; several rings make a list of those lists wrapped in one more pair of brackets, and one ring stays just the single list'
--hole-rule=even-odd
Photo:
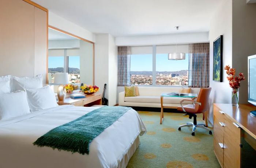
[{"label": "wide left headboard panel, left of the vertical seam", "polygon": [[34,6],[0,1],[0,76],[34,75]]}]

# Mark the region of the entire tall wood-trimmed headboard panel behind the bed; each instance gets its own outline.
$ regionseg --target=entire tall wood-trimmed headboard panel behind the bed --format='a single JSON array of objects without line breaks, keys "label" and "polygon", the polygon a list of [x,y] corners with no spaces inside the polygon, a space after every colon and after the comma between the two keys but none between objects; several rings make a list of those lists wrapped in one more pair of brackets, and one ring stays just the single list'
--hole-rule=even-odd
[{"label": "entire tall wood-trimmed headboard panel behind the bed", "polygon": [[43,74],[47,83],[48,10],[30,0],[1,0],[0,20],[0,76]]}]

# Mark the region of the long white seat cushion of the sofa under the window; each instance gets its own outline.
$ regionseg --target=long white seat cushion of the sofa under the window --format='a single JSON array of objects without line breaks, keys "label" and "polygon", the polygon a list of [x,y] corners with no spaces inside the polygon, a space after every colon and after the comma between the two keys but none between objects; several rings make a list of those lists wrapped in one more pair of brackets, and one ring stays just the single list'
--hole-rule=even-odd
[{"label": "long white seat cushion of the sofa under the window", "polygon": [[[164,104],[180,104],[180,101],[184,97],[163,97]],[[136,97],[124,97],[124,101],[126,102],[135,102],[135,103],[161,103],[160,96],[136,96]],[[183,104],[191,104],[190,101],[184,101]]]}]

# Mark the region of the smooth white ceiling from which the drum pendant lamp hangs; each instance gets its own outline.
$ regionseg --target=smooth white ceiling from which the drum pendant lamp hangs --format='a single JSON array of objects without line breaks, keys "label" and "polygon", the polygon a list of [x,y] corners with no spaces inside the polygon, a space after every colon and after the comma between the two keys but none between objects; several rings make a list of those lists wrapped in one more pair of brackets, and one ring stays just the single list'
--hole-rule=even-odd
[{"label": "smooth white ceiling from which the drum pendant lamp hangs", "polygon": [[33,0],[93,33],[113,36],[208,32],[223,0]]}]

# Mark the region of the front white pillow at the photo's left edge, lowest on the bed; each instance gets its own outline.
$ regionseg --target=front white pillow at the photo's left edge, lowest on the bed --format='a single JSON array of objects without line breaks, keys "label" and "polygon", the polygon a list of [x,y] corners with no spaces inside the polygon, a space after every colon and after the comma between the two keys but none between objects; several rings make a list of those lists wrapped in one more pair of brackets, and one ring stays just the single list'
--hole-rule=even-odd
[{"label": "front white pillow at the photo's left edge, lowest on the bed", "polygon": [[0,95],[0,120],[30,113],[25,90]]}]

